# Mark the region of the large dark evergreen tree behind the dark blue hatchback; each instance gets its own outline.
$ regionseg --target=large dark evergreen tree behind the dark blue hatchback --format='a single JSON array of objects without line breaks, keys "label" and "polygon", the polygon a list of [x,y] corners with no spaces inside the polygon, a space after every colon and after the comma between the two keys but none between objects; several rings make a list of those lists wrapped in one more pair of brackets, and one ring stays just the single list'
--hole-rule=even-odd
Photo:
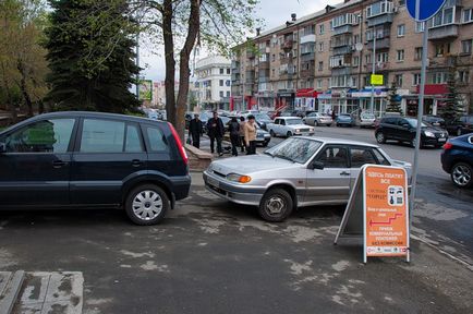
[{"label": "large dark evergreen tree behind the dark blue hatchback", "polygon": [[140,106],[130,92],[140,69],[126,1],[51,0],[50,5],[45,47],[54,109],[123,113]]}]

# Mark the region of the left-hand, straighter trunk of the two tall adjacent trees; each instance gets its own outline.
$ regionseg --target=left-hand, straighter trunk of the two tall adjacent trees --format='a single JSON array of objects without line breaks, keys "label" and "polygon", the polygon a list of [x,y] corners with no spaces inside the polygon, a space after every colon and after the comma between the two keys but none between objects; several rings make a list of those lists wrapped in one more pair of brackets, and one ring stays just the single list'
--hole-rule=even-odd
[{"label": "left-hand, straighter trunk of the two tall adjacent trees", "polygon": [[[174,126],[177,125],[175,117],[175,59],[174,59],[174,38],[172,35],[172,0],[165,0],[162,3],[162,37],[165,40],[165,63],[166,63],[166,111],[167,119]],[[182,78],[182,77],[181,77]],[[178,129],[179,130],[179,129]]]}]

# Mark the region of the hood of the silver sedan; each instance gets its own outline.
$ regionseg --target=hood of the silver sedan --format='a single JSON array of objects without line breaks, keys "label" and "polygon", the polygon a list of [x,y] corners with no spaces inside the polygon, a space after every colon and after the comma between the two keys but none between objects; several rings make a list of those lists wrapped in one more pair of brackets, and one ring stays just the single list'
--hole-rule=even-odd
[{"label": "hood of the silver sedan", "polygon": [[208,167],[208,171],[216,171],[223,176],[229,173],[250,174],[277,168],[289,168],[293,165],[298,164],[280,158],[272,158],[268,155],[250,155],[213,161]]}]

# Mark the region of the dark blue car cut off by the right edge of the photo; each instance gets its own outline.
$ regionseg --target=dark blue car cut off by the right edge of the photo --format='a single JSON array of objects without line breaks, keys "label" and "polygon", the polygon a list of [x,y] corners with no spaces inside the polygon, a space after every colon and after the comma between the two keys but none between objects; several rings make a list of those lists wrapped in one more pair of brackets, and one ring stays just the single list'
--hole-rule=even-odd
[{"label": "dark blue car cut off by the right edge of the photo", "polygon": [[473,185],[473,133],[449,140],[441,153],[441,168],[459,188]]}]

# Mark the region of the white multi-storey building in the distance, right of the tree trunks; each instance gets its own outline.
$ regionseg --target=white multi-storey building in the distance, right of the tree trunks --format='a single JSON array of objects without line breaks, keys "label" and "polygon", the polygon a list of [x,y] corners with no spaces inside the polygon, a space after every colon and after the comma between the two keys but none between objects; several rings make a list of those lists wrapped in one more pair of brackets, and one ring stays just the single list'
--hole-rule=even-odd
[{"label": "white multi-storey building in the distance, right of the tree trunks", "polygon": [[231,93],[231,61],[222,56],[209,56],[196,62],[194,95],[205,110],[228,110]]}]

